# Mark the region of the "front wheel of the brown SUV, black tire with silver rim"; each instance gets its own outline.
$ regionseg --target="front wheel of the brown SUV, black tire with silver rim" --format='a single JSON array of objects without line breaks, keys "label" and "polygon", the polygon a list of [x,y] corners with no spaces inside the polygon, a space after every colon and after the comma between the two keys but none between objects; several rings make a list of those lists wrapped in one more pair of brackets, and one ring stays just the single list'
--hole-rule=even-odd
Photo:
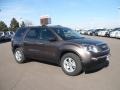
[{"label": "front wheel of the brown SUV, black tire with silver rim", "polygon": [[82,72],[82,63],[78,55],[74,53],[67,53],[61,58],[61,68],[65,74],[76,76]]}]

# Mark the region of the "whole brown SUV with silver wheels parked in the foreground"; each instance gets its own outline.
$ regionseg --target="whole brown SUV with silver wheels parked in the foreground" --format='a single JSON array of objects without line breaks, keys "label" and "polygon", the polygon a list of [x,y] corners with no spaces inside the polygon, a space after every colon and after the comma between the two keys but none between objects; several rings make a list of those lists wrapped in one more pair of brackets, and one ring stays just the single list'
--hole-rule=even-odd
[{"label": "whole brown SUV with silver wheels parked in the foreground", "polygon": [[62,26],[19,28],[12,39],[12,51],[18,63],[27,58],[47,60],[71,76],[80,74],[93,61],[107,60],[110,53],[106,43]]}]

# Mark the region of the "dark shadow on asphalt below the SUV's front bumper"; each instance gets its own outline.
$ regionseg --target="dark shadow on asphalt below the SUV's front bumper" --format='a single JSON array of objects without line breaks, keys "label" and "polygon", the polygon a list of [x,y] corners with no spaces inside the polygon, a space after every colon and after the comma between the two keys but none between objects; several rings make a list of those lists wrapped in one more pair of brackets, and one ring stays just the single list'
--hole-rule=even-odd
[{"label": "dark shadow on asphalt below the SUV's front bumper", "polygon": [[85,74],[91,74],[102,70],[109,66],[109,61],[105,60],[103,63],[93,65],[85,69]]}]

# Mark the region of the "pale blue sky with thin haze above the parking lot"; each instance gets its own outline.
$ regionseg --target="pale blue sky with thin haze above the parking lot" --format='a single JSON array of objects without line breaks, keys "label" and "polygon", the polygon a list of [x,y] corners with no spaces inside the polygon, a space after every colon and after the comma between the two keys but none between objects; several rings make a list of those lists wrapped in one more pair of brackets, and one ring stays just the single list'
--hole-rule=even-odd
[{"label": "pale blue sky with thin haze above the parking lot", "polygon": [[40,16],[52,25],[94,29],[120,27],[120,0],[0,0],[0,20],[8,26],[13,17],[40,25]]}]

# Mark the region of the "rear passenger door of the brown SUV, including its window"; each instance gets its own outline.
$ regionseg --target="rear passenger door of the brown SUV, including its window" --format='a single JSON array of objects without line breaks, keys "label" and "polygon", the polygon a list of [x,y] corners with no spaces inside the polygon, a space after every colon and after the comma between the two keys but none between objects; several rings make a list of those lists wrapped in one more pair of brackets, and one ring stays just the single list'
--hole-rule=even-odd
[{"label": "rear passenger door of the brown SUV, including its window", "polygon": [[29,28],[24,38],[24,52],[30,58],[38,58],[42,52],[40,40],[40,28]]}]

